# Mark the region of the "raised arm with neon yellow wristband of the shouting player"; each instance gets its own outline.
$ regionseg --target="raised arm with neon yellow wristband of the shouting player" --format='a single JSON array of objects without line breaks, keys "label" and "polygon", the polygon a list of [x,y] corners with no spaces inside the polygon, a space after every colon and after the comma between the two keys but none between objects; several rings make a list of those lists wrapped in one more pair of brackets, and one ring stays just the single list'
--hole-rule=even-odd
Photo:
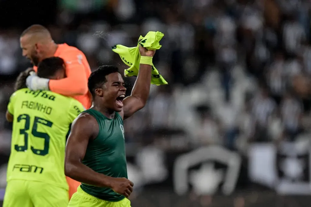
[{"label": "raised arm with neon yellow wristband of the shouting player", "polygon": [[139,46],[139,52],[141,54],[139,72],[131,96],[123,100],[123,119],[132,116],[136,111],[142,109],[146,105],[149,96],[152,57],[156,51],[147,50]]}]

